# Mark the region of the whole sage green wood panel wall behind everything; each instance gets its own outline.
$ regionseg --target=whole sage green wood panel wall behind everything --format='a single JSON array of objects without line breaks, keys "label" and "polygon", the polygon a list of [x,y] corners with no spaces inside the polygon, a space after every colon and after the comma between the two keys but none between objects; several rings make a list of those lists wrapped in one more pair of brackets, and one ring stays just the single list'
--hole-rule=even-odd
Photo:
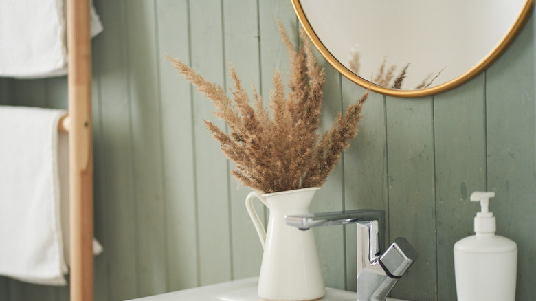
[{"label": "whole sage green wood panel wall behind everything", "polygon": [[[93,40],[96,300],[116,301],[258,275],[262,247],[233,168],[203,119],[214,107],[165,54],[225,89],[232,62],[269,102],[274,69],[287,82],[280,20],[298,42],[290,1],[96,0]],[[392,292],[456,300],[452,247],[472,232],[475,190],[493,190],[498,234],[518,247],[517,300],[536,294],[534,23],[485,73],[418,99],[370,93],[360,135],[313,201],[313,211],[378,208],[420,254]],[[366,89],[326,69],[321,130]],[[67,107],[65,77],[0,78],[0,104]],[[257,204],[257,210],[268,210]],[[326,285],[355,290],[355,227],[315,229]],[[525,263],[525,264],[521,264]],[[68,287],[0,277],[0,301],[68,300]]]}]

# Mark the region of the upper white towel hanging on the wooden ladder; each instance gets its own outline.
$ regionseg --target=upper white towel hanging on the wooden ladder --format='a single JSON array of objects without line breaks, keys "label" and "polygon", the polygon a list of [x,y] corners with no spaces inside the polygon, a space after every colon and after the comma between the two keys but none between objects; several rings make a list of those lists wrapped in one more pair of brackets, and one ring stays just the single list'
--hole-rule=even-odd
[{"label": "upper white towel hanging on the wooden ladder", "polygon": [[[91,36],[102,24],[91,1]],[[67,74],[65,0],[0,1],[0,76]]]}]

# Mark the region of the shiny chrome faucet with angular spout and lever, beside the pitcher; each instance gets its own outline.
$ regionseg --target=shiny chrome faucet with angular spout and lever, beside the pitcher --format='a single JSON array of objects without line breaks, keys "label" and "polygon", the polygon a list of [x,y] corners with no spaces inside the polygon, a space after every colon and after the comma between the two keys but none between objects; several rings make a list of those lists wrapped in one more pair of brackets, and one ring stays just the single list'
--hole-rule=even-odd
[{"label": "shiny chrome faucet with angular spout and lever, beside the pitcher", "polygon": [[383,301],[392,287],[417,260],[418,254],[405,238],[396,238],[381,254],[386,218],[383,210],[348,210],[285,216],[288,225],[300,230],[326,225],[357,225],[357,301]]}]

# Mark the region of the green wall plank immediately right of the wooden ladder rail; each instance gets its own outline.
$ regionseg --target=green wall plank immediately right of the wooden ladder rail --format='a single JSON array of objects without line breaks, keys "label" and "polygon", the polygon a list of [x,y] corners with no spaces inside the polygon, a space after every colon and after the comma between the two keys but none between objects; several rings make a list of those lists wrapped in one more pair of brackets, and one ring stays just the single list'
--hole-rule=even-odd
[{"label": "green wall plank immediately right of the wooden ladder rail", "polygon": [[[129,80],[126,71],[126,23],[123,1],[98,1],[99,14],[106,30],[93,40],[93,61],[98,70],[100,161],[102,183],[95,193],[96,215],[102,225],[100,237],[108,290],[105,300],[127,300],[137,295],[137,219],[134,200],[133,150],[131,137]],[[140,185],[142,185],[140,183]],[[96,270],[98,271],[98,270]]]}]

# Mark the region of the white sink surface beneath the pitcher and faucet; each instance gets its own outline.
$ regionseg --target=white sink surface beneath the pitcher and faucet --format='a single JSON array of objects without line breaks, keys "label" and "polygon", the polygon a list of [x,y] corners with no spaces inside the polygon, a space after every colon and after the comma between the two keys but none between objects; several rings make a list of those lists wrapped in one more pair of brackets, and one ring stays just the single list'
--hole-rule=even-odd
[{"label": "white sink surface beneath the pitcher and faucet", "polygon": [[[217,285],[207,285],[172,293],[163,293],[157,296],[133,299],[137,301],[261,301],[257,296],[258,277],[223,282]],[[350,301],[356,300],[354,291],[326,288],[326,295],[322,301]],[[132,300],[132,301],[133,301]],[[404,301],[387,298],[387,301]]]}]

